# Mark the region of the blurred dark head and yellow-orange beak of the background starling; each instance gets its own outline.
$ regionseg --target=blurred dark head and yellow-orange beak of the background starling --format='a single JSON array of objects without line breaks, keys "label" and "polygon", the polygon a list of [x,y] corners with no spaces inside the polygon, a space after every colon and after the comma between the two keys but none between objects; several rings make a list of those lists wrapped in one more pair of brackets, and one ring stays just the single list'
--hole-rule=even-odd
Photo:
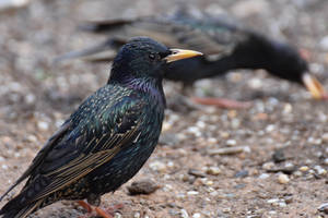
[{"label": "blurred dark head and yellow-orange beak of the background starling", "polygon": [[269,72],[278,77],[303,85],[316,99],[327,97],[323,85],[309,73],[306,60],[301,57],[295,48],[276,41],[272,45],[271,63],[268,64],[269,69],[267,69]]}]

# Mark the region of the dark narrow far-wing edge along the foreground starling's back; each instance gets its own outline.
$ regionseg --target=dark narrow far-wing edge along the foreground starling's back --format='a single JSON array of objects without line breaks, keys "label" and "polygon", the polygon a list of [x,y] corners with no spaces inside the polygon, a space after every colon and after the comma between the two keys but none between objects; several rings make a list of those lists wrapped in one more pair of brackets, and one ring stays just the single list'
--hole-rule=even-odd
[{"label": "dark narrow far-wing edge along the foreground starling's back", "polygon": [[34,158],[32,165],[27,168],[27,170],[16,180],[16,182],[11,185],[8,191],[0,197],[0,202],[3,199],[3,197],[12,191],[17,184],[20,184],[23,180],[25,180],[27,177],[30,177],[31,172],[35,170],[39,166],[39,164],[43,161],[45,155],[52,148],[54,145],[58,141],[63,137],[63,135],[69,131],[71,126],[71,122],[66,122],[61,125],[61,128],[48,140],[48,142],[44,145],[44,147],[40,149],[40,152],[37,154],[37,156]]}]

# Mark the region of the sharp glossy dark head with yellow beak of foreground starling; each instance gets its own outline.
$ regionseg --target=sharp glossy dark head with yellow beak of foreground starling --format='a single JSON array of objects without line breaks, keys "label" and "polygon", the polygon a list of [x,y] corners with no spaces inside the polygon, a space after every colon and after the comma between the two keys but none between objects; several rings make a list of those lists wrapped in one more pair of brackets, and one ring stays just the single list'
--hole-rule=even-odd
[{"label": "sharp glossy dark head with yellow beak of foreground starling", "polygon": [[200,55],[192,50],[168,49],[148,37],[136,37],[118,51],[113,62],[109,81],[122,82],[134,78],[161,81],[165,64]]}]

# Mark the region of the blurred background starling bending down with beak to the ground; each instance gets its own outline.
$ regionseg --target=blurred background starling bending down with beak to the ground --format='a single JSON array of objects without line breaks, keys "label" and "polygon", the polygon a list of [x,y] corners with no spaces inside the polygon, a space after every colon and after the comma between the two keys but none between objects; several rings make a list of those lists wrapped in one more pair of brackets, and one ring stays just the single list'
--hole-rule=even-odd
[{"label": "blurred background starling bending down with beak to the ground", "polygon": [[314,98],[325,96],[323,86],[308,72],[307,62],[295,48],[223,17],[213,17],[199,11],[196,16],[181,8],[173,15],[90,22],[82,28],[107,34],[109,38],[95,47],[70,52],[60,59],[96,55],[89,59],[108,61],[124,41],[141,34],[169,47],[181,46],[204,53],[171,64],[164,78],[191,85],[197,80],[223,75],[234,69],[263,69],[271,75],[305,86]]}]

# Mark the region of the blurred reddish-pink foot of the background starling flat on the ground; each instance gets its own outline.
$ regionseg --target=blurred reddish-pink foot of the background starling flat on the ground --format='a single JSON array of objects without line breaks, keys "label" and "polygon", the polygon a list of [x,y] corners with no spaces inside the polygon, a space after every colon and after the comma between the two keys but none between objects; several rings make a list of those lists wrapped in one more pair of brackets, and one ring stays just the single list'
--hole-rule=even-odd
[{"label": "blurred reddish-pink foot of the background starling flat on the ground", "polygon": [[227,109],[245,109],[251,106],[249,101],[236,101],[230,100],[225,98],[191,98],[195,102],[200,105],[215,106],[219,108],[227,108]]}]

